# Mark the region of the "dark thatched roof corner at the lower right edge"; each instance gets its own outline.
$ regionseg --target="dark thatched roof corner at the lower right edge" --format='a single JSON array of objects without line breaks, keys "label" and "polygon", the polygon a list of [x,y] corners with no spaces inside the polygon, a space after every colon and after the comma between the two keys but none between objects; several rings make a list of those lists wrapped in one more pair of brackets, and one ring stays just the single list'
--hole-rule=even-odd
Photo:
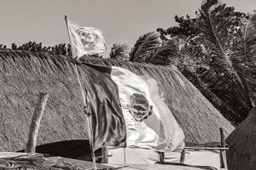
[{"label": "dark thatched roof corner at the lower right edge", "polygon": [[256,167],[256,107],[226,139],[230,150],[227,161],[232,170],[254,170]]}]

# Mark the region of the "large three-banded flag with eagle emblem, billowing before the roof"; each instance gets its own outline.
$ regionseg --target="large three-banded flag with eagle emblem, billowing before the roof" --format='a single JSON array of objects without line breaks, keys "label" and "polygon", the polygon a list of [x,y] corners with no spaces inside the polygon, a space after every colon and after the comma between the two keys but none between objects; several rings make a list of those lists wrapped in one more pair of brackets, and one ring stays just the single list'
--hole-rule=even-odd
[{"label": "large three-banded flag with eagle emblem, billowing before the roof", "polygon": [[126,146],[159,151],[183,148],[184,134],[157,82],[120,67],[81,65],[92,115],[93,149]]}]

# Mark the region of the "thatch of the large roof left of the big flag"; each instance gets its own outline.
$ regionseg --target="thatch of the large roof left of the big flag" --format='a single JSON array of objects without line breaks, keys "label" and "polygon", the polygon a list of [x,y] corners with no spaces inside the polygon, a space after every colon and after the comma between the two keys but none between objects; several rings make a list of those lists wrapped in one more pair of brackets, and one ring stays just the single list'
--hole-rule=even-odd
[{"label": "thatch of the large roof left of the big flag", "polygon": [[73,64],[57,56],[0,53],[0,151],[24,149],[38,94],[49,94],[38,144],[85,139],[86,123]]}]

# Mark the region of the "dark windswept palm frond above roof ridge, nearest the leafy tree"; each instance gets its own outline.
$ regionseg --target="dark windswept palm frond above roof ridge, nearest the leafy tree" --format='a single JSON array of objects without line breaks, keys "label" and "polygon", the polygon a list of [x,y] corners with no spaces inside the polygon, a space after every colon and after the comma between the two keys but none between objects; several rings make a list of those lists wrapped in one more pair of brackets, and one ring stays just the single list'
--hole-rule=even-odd
[{"label": "dark windswept palm frond above roof ridge, nearest the leafy tree", "polygon": [[130,61],[145,62],[161,42],[160,33],[155,31],[139,37],[131,49]]}]

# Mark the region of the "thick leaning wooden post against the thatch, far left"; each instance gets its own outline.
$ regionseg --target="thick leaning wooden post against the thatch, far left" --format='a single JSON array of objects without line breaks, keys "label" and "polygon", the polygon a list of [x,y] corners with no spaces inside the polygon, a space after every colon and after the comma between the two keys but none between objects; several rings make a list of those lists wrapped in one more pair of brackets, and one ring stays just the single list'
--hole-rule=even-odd
[{"label": "thick leaning wooden post against the thatch, far left", "polygon": [[38,130],[40,127],[40,122],[44,113],[44,108],[47,103],[47,99],[49,98],[49,94],[40,93],[38,99],[38,105],[34,111],[32,116],[32,122],[29,127],[28,140],[26,144],[26,153],[35,153],[37,139],[38,139]]}]

